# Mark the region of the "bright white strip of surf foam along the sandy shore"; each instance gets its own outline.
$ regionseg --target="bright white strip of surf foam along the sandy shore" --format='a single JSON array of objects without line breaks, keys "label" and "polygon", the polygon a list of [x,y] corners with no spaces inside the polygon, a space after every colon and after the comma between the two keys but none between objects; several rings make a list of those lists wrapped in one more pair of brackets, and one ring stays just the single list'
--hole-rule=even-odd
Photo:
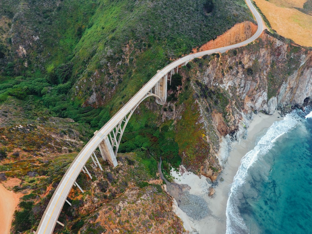
[{"label": "bright white strip of surf foam along the sandy shore", "polygon": [[231,192],[227,201],[227,234],[249,233],[238,208],[239,200],[243,196],[241,188],[246,183],[247,176],[249,175],[249,169],[251,169],[251,166],[253,166],[259,158],[264,157],[269,152],[278,138],[289,132],[298,124],[299,118],[302,118],[299,116],[299,111],[294,111],[291,114],[287,114],[283,120],[274,122],[267,130],[266,134],[260,139],[255,148],[249,151],[241,159],[241,164],[234,177]]}]

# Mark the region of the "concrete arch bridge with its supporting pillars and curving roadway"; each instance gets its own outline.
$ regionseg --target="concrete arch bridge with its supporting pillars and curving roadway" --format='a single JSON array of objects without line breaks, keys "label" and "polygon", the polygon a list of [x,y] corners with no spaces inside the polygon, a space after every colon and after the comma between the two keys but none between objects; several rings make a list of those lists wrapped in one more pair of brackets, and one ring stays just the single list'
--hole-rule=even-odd
[{"label": "concrete arch bridge with its supporting pillars and curving roadway", "polygon": [[[261,35],[263,31],[261,16],[253,7],[250,0],[246,0],[246,3],[254,14],[258,23],[258,29],[256,33],[246,41],[231,46],[225,46],[213,50],[190,54],[173,61],[163,69],[158,70],[152,79],[150,79],[100,130],[95,132],[95,135],[90,139],[90,141],[77,155],[75,160],[71,163],[70,167],[61,179],[61,182],[57,186],[53,196],[51,197],[48,206],[46,207],[46,210],[37,228],[37,234],[53,233],[56,223],[64,226],[61,222],[58,221],[58,217],[61,213],[64,203],[68,202],[67,197],[72,186],[77,186],[81,192],[84,192],[82,188],[80,188],[80,186],[76,183],[78,175],[81,171],[83,171],[84,173],[87,173],[90,178],[92,178],[87,168],[85,167],[85,163],[89,158],[91,158],[95,166],[98,166],[101,170],[103,170],[99,160],[94,154],[97,148],[99,148],[104,160],[107,160],[114,167],[118,165],[116,155],[121,137],[124,133],[129,118],[138,105],[147,97],[155,96],[156,102],[160,105],[163,105],[166,102],[167,82],[171,82],[171,76],[178,72],[179,66],[186,65],[188,61],[197,57],[209,55],[212,53],[223,53],[229,49],[247,45]],[[68,203],[71,205],[70,202]]]}]

